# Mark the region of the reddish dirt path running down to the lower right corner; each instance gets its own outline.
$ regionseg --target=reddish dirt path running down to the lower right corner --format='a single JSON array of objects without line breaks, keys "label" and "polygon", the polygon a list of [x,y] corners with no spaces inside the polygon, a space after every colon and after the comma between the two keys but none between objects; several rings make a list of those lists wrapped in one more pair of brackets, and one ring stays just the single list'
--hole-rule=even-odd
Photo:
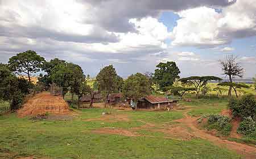
[{"label": "reddish dirt path running down to the lower right corner", "polygon": [[185,118],[175,120],[175,122],[182,123],[186,125],[187,127],[192,129],[193,135],[196,137],[200,137],[201,139],[205,139],[208,141],[211,141],[213,144],[228,148],[230,150],[236,151],[238,154],[242,154],[245,156],[245,158],[256,158],[256,147],[250,147],[246,144],[236,143],[234,141],[224,140],[220,139],[220,137],[216,137],[213,135],[210,135],[209,133],[205,132],[202,129],[197,128],[197,119],[191,117],[187,114],[188,110],[184,112]]}]

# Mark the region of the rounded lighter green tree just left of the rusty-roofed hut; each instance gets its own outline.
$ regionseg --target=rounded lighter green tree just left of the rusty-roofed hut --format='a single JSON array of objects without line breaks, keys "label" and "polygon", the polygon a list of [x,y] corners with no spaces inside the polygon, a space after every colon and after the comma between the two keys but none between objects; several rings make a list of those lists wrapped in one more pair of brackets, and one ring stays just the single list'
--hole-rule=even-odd
[{"label": "rounded lighter green tree just left of the rusty-roofed hut", "polygon": [[132,74],[123,83],[123,95],[132,98],[136,103],[145,95],[150,94],[149,80],[141,73]]}]

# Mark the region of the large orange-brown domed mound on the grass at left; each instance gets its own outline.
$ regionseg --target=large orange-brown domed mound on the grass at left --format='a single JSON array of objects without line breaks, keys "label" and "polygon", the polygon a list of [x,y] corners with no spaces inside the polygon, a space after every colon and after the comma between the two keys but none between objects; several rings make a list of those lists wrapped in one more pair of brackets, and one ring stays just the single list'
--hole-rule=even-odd
[{"label": "large orange-brown domed mound on the grass at left", "polygon": [[18,116],[34,116],[39,114],[69,114],[68,103],[60,96],[52,96],[49,93],[39,93],[28,99],[23,107],[18,110]]}]

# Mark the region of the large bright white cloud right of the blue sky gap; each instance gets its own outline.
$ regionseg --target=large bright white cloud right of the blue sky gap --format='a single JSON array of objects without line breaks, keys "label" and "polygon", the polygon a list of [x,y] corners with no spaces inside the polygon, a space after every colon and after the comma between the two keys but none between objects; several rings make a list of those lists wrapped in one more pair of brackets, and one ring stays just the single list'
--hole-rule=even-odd
[{"label": "large bright white cloud right of the blue sky gap", "polygon": [[179,11],[172,45],[214,47],[256,35],[256,3],[239,0],[218,12],[209,7]]}]

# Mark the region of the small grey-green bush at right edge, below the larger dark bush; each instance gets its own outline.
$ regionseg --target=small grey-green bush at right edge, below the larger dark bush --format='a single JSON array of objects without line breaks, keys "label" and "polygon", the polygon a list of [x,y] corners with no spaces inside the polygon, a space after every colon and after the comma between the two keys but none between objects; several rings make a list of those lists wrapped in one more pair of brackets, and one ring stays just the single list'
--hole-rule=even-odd
[{"label": "small grey-green bush at right edge, below the larger dark bush", "polygon": [[243,119],[243,121],[240,123],[238,129],[238,133],[241,133],[242,135],[253,135],[256,133],[256,122],[251,117],[247,117]]}]

